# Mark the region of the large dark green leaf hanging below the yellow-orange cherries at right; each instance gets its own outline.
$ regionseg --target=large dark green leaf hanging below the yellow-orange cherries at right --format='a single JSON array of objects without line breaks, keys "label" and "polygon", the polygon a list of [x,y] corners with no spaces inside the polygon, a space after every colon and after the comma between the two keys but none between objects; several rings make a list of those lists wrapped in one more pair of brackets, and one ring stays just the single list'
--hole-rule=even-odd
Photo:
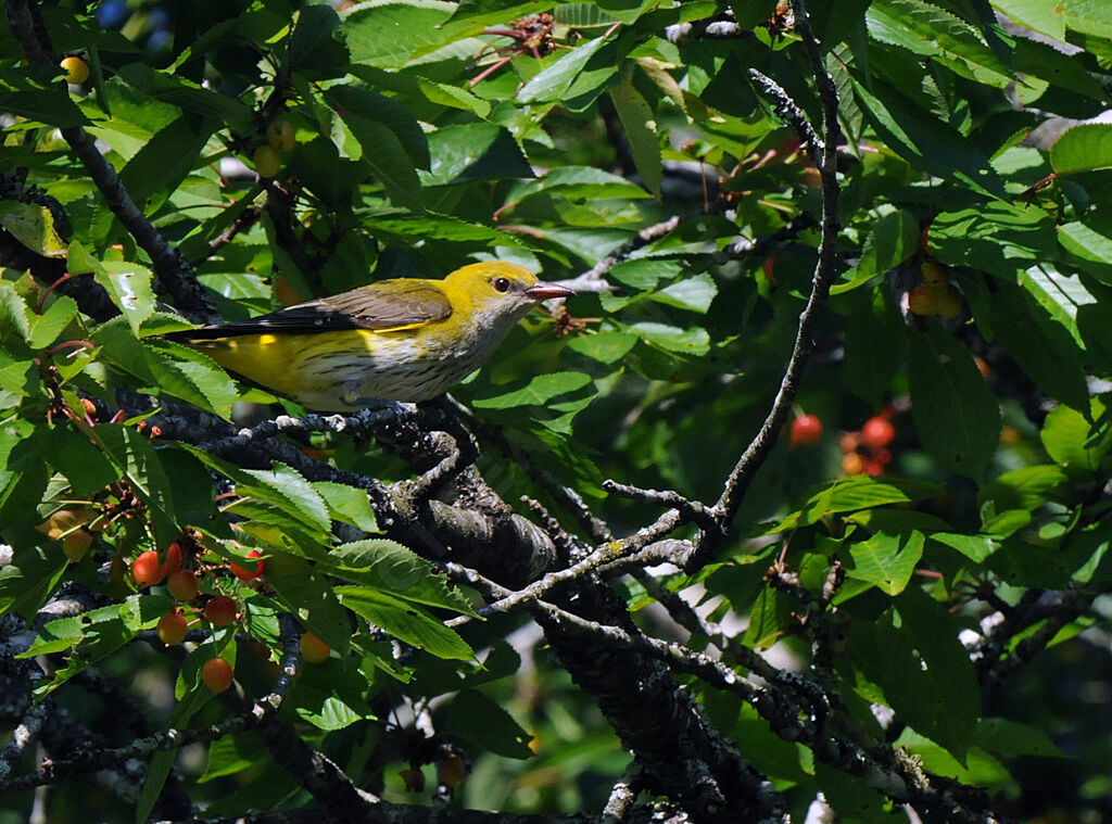
[{"label": "large dark green leaf hanging below the yellow-orange cherries at right", "polygon": [[980,477],[1000,440],[1000,406],[969,351],[937,324],[913,331],[907,381],[926,450],[950,470]]}]

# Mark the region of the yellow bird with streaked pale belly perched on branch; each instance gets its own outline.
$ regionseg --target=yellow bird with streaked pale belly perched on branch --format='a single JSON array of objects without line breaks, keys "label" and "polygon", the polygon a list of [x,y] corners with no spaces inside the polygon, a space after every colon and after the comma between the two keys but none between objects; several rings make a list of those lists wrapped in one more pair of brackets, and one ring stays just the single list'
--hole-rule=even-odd
[{"label": "yellow bird with streaked pale belly perched on branch", "polygon": [[529,309],[574,294],[493,260],[443,280],[379,280],[163,337],[307,409],[355,411],[440,395],[478,369]]}]

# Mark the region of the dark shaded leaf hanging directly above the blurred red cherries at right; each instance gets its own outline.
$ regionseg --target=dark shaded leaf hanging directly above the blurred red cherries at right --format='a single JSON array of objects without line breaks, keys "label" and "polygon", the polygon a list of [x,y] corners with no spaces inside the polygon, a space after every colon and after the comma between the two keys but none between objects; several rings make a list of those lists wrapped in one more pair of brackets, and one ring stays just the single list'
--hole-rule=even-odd
[{"label": "dark shaded leaf hanging directly above the blurred red cherries at right", "polygon": [[850,389],[880,409],[903,364],[907,327],[887,284],[857,297],[845,329],[845,377]]}]

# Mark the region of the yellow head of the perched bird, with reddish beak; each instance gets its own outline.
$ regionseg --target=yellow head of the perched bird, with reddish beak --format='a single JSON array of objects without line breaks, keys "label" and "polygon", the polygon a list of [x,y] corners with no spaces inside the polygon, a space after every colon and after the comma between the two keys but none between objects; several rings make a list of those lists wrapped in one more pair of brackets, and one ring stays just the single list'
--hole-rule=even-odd
[{"label": "yellow head of the perched bird, with reddish beak", "polygon": [[570,289],[537,280],[517,264],[490,260],[456,269],[444,280],[453,314],[461,310],[480,327],[516,324],[542,300],[567,298]]}]

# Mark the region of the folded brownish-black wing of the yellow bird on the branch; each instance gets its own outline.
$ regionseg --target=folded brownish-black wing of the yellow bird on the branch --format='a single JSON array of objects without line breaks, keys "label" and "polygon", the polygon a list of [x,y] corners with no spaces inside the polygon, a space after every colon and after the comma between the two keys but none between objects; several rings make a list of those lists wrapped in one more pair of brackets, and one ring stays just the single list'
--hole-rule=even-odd
[{"label": "folded brownish-black wing of the yellow bird on the branch", "polygon": [[266,332],[304,334],[338,329],[405,329],[451,315],[451,304],[436,284],[399,278],[297,304],[248,320],[173,332],[171,339],[203,340]]}]

